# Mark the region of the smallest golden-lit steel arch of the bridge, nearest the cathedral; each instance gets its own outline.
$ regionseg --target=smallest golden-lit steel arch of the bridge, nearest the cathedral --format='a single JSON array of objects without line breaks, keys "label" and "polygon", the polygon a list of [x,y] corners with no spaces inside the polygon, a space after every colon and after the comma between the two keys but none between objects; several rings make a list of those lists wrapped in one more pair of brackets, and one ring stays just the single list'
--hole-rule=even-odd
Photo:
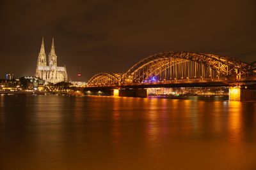
[{"label": "smallest golden-lit steel arch of the bridge, nearest the cathedral", "polygon": [[121,74],[120,73],[99,73],[90,78],[88,86],[111,86],[119,85]]}]

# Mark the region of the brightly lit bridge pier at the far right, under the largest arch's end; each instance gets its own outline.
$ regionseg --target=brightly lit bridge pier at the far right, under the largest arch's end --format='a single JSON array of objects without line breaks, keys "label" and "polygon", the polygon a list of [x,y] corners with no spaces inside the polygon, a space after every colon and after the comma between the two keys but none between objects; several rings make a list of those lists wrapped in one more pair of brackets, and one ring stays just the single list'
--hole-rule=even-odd
[{"label": "brightly lit bridge pier at the far right, under the largest arch's end", "polygon": [[230,101],[256,101],[256,89],[229,88]]}]

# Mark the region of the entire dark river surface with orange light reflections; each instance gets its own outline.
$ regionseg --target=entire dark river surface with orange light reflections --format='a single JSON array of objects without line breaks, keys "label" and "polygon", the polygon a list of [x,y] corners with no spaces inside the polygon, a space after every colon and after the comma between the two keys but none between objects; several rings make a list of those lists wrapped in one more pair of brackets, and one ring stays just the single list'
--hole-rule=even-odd
[{"label": "entire dark river surface with orange light reflections", "polygon": [[1,169],[256,167],[255,102],[102,96],[0,101]]}]

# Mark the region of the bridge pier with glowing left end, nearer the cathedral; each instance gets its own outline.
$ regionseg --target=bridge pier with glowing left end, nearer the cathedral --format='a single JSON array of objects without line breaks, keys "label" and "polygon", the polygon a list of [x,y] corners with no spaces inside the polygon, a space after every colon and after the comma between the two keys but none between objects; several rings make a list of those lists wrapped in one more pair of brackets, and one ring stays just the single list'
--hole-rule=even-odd
[{"label": "bridge pier with glowing left end, nearer the cathedral", "polygon": [[148,90],[147,89],[114,89],[114,96],[120,97],[147,97]]}]

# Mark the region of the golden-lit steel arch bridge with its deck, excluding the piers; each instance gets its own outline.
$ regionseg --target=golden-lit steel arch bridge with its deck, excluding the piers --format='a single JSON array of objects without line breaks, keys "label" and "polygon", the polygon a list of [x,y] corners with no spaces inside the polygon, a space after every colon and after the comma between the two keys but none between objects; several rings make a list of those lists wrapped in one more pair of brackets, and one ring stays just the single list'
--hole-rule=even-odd
[{"label": "golden-lit steel arch bridge with its deck, excluding the piers", "polygon": [[86,90],[151,87],[241,87],[256,83],[256,63],[211,53],[170,51],[137,62],[126,73],[99,73]]}]

